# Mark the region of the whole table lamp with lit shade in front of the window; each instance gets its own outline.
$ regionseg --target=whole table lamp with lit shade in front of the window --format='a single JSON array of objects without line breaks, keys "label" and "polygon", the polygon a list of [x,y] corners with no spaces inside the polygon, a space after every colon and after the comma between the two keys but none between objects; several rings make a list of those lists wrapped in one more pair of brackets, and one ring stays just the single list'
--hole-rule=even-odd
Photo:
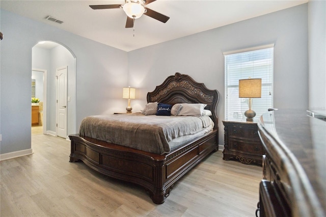
[{"label": "whole table lamp with lit shade in front of the window", "polygon": [[249,110],[244,112],[244,116],[247,117],[247,121],[253,121],[256,112],[251,109],[253,104],[252,98],[261,98],[261,78],[240,79],[239,98],[249,98]]}]

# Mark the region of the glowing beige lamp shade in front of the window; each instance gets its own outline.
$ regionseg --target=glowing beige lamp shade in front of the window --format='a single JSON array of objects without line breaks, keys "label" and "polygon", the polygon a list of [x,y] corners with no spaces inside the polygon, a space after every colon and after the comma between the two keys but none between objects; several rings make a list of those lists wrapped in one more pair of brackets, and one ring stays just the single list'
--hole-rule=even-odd
[{"label": "glowing beige lamp shade in front of the window", "polygon": [[239,98],[261,98],[261,78],[239,80]]}]

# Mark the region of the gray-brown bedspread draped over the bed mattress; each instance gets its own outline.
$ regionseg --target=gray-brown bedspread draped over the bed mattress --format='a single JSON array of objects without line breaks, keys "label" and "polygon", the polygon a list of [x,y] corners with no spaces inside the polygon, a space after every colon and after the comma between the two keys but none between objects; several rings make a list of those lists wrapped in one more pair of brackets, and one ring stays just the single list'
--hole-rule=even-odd
[{"label": "gray-brown bedspread draped over the bed mattress", "polygon": [[208,116],[97,115],[86,117],[79,134],[151,153],[171,151],[169,142],[213,125]]}]

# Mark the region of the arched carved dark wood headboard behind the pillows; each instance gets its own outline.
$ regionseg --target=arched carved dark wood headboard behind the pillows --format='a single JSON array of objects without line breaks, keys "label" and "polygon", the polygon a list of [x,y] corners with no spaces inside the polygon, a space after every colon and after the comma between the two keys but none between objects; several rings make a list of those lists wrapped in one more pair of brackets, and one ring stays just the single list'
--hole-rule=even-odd
[{"label": "arched carved dark wood headboard behind the pillows", "polygon": [[176,72],[169,76],[161,85],[156,86],[153,92],[147,93],[147,102],[161,102],[167,104],[176,103],[205,103],[212,112],[215,127],[218,127],[218,116],[216,108],[219,102],[219,92],[209,90],[203,83],[195,80],[186,74]]}]

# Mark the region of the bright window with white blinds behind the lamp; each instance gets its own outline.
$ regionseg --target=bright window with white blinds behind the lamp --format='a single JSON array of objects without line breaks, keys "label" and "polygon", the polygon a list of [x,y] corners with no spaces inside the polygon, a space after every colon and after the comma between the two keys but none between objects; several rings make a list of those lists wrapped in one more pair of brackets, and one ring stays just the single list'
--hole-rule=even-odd
[{"label": "bright window with white blinds behind the lamp", "polygon": [[256,119],[273,107],[274,44],[224,53],[225,119],[245,119],[248,99],[239,98],[239,79],[261,78],[261,98],[254,98]]}]

